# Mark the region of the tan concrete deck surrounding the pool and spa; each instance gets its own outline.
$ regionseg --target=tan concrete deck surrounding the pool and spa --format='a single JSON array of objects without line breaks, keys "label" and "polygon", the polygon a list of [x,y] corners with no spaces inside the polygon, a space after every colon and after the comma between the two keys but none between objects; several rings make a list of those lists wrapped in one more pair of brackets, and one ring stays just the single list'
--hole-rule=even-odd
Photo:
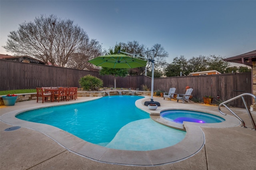
[{"label": "tan concrete deck surrounding the pool and spa", "polygon": [[[32,100],[16,103],[15,106],[12,107],[1,106],[0,119],[6,119],[6,113],[17,112],[17,110],[22,111],[28,108],[63,105],[92,98],[93,97],[79,97],[76,101],[62,101],[60,103],[45,102],[44,104],[41,102],[36,103],[36,101]],[[182,102],[177,103],[173,100],[163,100],[163,98],[160,97],[154,97],[154,100],[160,102],[161,107],[158,107],[156,111],[151,111],[154,113],[152,119],[159,119],[157,116],[158,111],[164,109],[183,108],[202,110],[205,112],[218,112],[218,107],[212,105],[197,103],[182,104]],[[148,108],[142,104],[143,101],[140,101],[139,107],[144,111],[148,111]],[[256,131],[250,129],[252,128],[252,123],[250,122],[246,109],[232,108],[232,110],[245,121],[248,128],[241,128],[240,126],[218,128],[214,126],[201,126],[200,129],[204,134],[205,141],[198,152],[184,160],[170,164],[162,164],[162,160],[166,159],[166,155],[162,155],[161,158],[161,152],[155,153],[155,156],[158,157],[155,159],[153,157],[154,155],[150,155],[150,159],[146,161],[154,165],[160,164],[158,166],[107,164],[79,156],[67,149],[68,146],[74,145],[76,142],[78,142],[76,145],[77,148],[84,147],[79,146],[81,142],[78,138],[73,138],[73,136],[70,135],[69,137],[72,143],[64,142],[66,146],[63,147],[63,145],[60,145],[58,142],[58,136],[54,136],[56,140],[53,140],[51,136],[42,133],[44,130],[52,130],[52,127],[50,127],[50,129],[42,127],[42,131],[40,131],[40,125],[34,124],[34,128],[39,128],[38,131],[34,130],[34,128],[26,128],[26,124],[24,124],[24,126],[21,126],[22,128],[18,130],[6,132],[4,129],[17,126],[16,118],[12,117],[12,125],[0,121],[0,169],[256,169],[254,158],[256,153]],[[231,115],[229,112],[225,113]],[[256,120],[255,112],[252,112],[252,117]],[[188,127],[191,126],[189,124],[190,123],[188,123]],[[194,128],[193,126],[196,129],[198,128],[197,125],[192,125],[192,128]],[[52,133],[54,135],[55,132]],[[90,147],[90,145],[88,147]],[[190,148],[193,147],[194,146],[190,146]],[[126,154],[124,155],[122,151],[120,152],[120,150],[118,152],[120,160],[122,160],[122,156],[127,156]],[[168,152],[172,152],[174,157],[182,157],[182,155],[178,154],[178,150],[169,150]],[[97,153],[98,151],[91,150],[89,154],[97,156]],[[133,160],[134,157],[138,155],[130,154],[129,156],[130,160]],[[109,156],[106,156],[105,159],[110,157],[111,153]],[[127,159],[129,159],[129,157],[126,158],[126,160]]]}]

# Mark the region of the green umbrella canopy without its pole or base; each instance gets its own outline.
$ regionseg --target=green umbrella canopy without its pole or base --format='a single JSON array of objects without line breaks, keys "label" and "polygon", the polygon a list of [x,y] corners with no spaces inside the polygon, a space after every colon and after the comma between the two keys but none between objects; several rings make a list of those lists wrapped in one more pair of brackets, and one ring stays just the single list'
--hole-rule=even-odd
[{"label": "green umbrella canopy without its pole or base", "polygon": [[113,69],[145,67],[146,60],[130,57],[125,54],[111,54],[99,56],[88,61],[96,66],[109,67]]}]

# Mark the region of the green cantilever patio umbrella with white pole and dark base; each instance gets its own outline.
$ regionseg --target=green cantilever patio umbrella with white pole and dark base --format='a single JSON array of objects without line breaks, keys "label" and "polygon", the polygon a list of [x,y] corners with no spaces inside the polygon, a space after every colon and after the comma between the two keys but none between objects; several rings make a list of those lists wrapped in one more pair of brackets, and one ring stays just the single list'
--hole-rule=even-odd
[{"label": "green cantilever patio umbrella with white pole and dark base", "polygon": [[[147,59],[145,57],[139,56],[142,53],[131,54],[131,53],[126,53],[124,51],[118,51],[117,54],[99,56],[99,57],[89,60],[88,62],[90,62],[96,66],[108,67],[108,68],[113,68],[113,69],[121,69],[121,68],[129,68],[130,69],[130,68],[137,68],[137,67],[146,67],[147,62],[151,62],[152,63],[151,101],[146,101],[144,103],[144,105],[148,106],[150,104],[156,104],[156,105],[160,106],[159,102],[153,100],[155,50],[153,49],[150,51],[153,52],[152,59]],[[150,51],[146,51],[143,53],[147,53]],[[120,54],[120,53],[124,53],[124,54]],[[130,57],[126,54],[131,55],[133,57]],[[140,58],[142,58],[142,59],[140,59]],[[145,69],[145,71],[146,71],[146,69]]]}]

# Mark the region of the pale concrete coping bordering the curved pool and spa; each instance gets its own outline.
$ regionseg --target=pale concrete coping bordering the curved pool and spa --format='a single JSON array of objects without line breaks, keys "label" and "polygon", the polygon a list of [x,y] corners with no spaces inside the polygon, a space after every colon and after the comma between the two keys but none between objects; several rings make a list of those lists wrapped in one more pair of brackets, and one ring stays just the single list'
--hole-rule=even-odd
[{"label": "pale concrete coping bordering the curved pool and spa", "polygon": [[[136,101],[136,107],[142,109],[143,111],[150,113],[150,115],[154,115],[157,117],[156,113],[160,113],[164,109],[174,109],[171,107],[162,107],[161,109],[157,109],[156,111],[149,110],[144,104],[144,100],[148,99],[148,96],[144,96],[146,98],[139,99]],[[90,101],[94,99],[98,99],[100,97],[91,98],[83,101],[73,101],[72,103],[81,103],[84,101]],[[26,109],[18,109],[16,111],[8,112],[0,117],[1,121],[8,123],[10,125],[21,126],[25,128],[29,128],[32,130],[36,130],[45,134],[46,136],[52,138],[55,142],[57,142],[60,146],[66,148],[70,152],[76,153],[80,156],[84,156],[86,158],[90,158],[92,160],[110,164],[121,164],[121,165],[137,165],[137,166],[157,166],[161,164],[169,164],[173,162],[178,162],[193,156],[197,152],[199,152],[204,146],[204,132],[200,128],[200,126],[196,125],[196,123],[184,123],[184,128],[186,128],[186,136],[184,140],[175,144],[174,146],[170,146],[167,148],[162,148],[158,150],[150,150],[150,151],[130,151],[130,150],[116,150],[105,148],[103,146],[99,146],[96,144],[92,144],[90,142],[86,142],[64,130],[59,128],[40,124],[40,123],[32,123],[28,121],[23,121],[17,119],[15,115],[22,113],[24,111],[39,109],[49,106],[59,106],[66,105],[67,103],[52,103],[52,105],[41,106],[41,107],[29,107]],[[178,109],[177,107],[175,109]],[[184,109],[184,108],[182,108]],[[191,110],[191,109],[190,109]],[[152,114],[151,114],[152,113]],[[219,116],[219,115],[218,115]],[[232,117],[233,118],[233,117]],[[226,119],[226,117],[224,118]],[[235,119],[235,118],[233,118]],[[237,125],[240,122],[236,120]],[[219,123],[217,123],[220,125]],[[232,124],[232,126],[237,126]],[[200,124],[202,126],[202,124]],[[207,125],[205,125],[208,127]],[[214,127],[214,125],[210,125]],[[216,126],[216,125],[215,125]],[[218,126],[219,127],[219,126]],[[223,127],[230,127],[230,125],[223,125]],[[193,146],[193,147],[191,147]]]}]

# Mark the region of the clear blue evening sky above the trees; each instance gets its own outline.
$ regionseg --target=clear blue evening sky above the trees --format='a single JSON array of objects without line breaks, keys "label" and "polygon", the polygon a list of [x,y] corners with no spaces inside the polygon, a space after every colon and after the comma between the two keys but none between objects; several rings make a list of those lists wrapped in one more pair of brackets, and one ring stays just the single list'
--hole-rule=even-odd
[{"label": "clear blue evening sky above the trees", "polygon": [[10,31],[41,14],[74,20],[105,49],[136,40],[174,57],[232,57],[256,49],[256,1],[0,0],[0,53]]}]

